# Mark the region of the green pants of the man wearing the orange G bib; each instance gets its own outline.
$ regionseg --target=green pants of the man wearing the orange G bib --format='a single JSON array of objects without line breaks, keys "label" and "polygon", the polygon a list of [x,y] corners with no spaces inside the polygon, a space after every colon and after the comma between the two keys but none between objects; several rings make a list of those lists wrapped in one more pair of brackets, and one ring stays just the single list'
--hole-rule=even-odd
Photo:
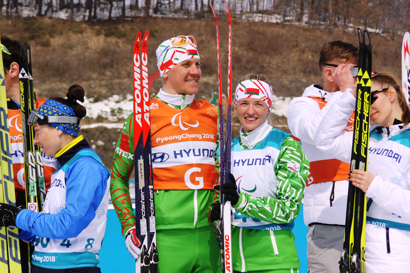
[{"label": "green pants of the man wearing the orange G bib", "polygon": [[157,231],[158,273],[222,272],[215,228]]}]

